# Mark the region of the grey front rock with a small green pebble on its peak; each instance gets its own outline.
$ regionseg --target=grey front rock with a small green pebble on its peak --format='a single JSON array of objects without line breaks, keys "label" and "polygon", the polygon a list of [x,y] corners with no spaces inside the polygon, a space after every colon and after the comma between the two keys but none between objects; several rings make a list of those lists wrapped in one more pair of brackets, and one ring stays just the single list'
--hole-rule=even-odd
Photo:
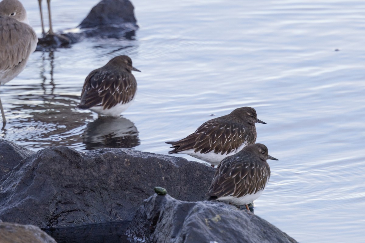
[{"label": "grey front rock with a small green pebble on its peak", "polygon": [[295,243],[264,219],[233,205],[186,202],[155,194],[145,200],[126,234],[131,242]]}]

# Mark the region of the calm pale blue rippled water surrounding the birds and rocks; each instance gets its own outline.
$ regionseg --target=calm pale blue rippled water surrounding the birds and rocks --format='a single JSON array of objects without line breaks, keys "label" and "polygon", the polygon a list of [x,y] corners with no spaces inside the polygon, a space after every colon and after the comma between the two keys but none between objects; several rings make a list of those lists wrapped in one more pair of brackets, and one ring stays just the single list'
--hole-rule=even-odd
[{"label": "calm pale blue rippled water surrounding the birds and rocks", "polygon": [[[77,26],[96,3],[53,0],[54,28]],[[299,242],[364,242],[365,2],[133,4],[135,40],[89,39],[31,55],[1,87],[8,119],[1,138],[32,150],[113,145],[167,154],[165,141],[212,114],[251,106],[267,123],[257,124],[257,142],[280,159],[270,161],[255,213]],[[40,35],[37,1],[25,7]],[[122,54],[142,72],[120,122],[77,110],[89,72]]]}]

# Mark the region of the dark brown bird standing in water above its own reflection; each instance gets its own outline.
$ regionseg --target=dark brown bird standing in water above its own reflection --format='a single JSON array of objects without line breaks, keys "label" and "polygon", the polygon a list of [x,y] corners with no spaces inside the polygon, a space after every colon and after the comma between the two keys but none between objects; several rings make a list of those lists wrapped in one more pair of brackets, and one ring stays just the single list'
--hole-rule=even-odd
[{"label": "dark brown bird standing in water above its own reflection", "polygon": [[117,117],[134,101],[137,81],[128,56],[116,56],[85,79],[81,93],[80,109],[90,109],[99,115]]}]

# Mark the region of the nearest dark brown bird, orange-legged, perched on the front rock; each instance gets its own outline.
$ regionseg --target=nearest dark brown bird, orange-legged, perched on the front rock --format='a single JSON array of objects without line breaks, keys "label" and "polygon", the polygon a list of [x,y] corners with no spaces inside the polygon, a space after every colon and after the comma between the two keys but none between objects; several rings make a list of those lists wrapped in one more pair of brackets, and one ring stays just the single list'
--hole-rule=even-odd
[{"label": "nearest dark brown bird, orange-legged, perched on the front rock", "polygon": [[246,205],[258,199],[270,179],[266,160],[278,160],[263,144],[247,145],[235,155],[224,158],[217,167],[207,195],[208,201],[222,200]]}]

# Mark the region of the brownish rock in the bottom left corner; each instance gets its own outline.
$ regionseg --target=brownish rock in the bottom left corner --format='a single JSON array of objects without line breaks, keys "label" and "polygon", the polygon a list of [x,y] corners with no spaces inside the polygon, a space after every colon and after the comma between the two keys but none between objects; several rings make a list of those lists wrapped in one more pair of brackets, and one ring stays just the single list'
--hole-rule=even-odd
[{"label": "brownish rock in the bottom left corner", "polygon": [[40,228],[32,225],[0,223],[1,243],[56,243]]}]

